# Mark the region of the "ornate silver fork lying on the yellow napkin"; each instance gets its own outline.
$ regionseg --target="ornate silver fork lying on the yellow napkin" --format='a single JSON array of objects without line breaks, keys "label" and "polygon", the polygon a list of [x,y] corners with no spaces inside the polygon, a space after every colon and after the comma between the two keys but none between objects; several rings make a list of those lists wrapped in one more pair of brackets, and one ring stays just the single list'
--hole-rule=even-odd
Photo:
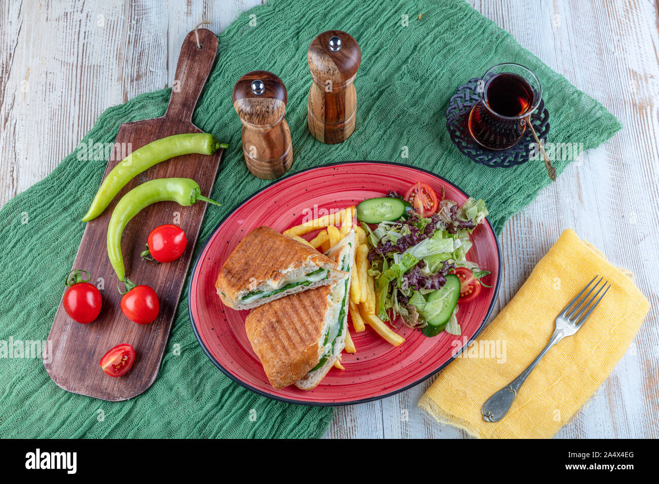
[{"label": "ornate silver fork lying on the yellow napkin", "polygon": [[[600,304],[604,294],[606,294],[606,291],[608,291],[611,287],[611,284],[608,284],[608,281],[604,281],[604,284],[600,286],[600,282],[602,282],[602,279],[604,279],[603,277],[600,277],[599,281],[595,282],[594,286],[592,286],[592,288],[590,288],[586,295],[583,296],[583,298],[580,300],[579,298],[581,297],[581,294],[586,292],[590,284],[592,284],[595,279],[597,279],[597,276],[593,277],[592,281],[588,282],[586,287],[583,288],[583,290],[581,290],[581,292],[579,292],[579,294],[577,294],[577,296],[571,300],[565,309],[563,309],[563,311],[561,311],[561,313],[556,317],[556,329],[554,329],[554,334],[549,339],[547,346],[544,347],[544,350],[540,352],[538,357],[531,362],[527,369],[522,371],[519,377],[515,378],[508,385],[503,387],[494,395],[490,396],[490,398],[488,398],[488,400],[483,404],[482,408],[480,409],[483,414],[483,419],[488,422],[500,421],[503,416],[505,416],[506,412],[508,412],[510,406],[513,404],[513,400],[515,400],[515,397],[517,396],[519,387],[522,386],[524,381],[529,376],[529,373],[536,367],[538,362],[542,360],[542,357],[547,354],[547,352],[550,350],[550,348],[552,348],[552,346],[554,346],[554,344],[565,338],[565,336],[572,336],[577,333],[577,331],[579,331],[579,328],[581,328],[584,321],[588,319],[590,313],[592,313],[596,306]],[[588,299],[590,294],[592,294],[597,286],[600,286],[598,291],[594,294],[594,296]],[[600,292],[602,292],[602,289],[604,289],[602,296],[595,300]],[[590,306],[593,301],[595,301],[595,303]],[[588,306],[590,306],[590,308],[588,308]],[[588,311],[584,313],[586,309],[588,309]]]}]

